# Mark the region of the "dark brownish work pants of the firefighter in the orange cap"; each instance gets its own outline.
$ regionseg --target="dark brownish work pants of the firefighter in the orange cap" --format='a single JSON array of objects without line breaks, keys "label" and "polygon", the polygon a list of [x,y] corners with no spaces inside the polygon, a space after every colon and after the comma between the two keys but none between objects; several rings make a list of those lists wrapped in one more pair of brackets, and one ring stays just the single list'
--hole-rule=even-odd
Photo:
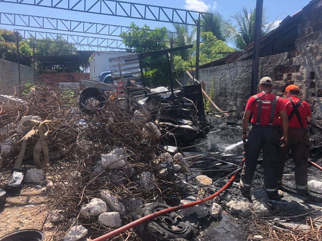
[{"label": "dark brownish work pants of the firefighter in the orange cap", "polygon": [[278,168],[278,180],[282,183],[285,160],[289,151],[292,151],[295,164],[295,184],[296,191],[299,193],[308,192],[308,154],[310,141],[306,128],[289,128],[288,143],[281,147],[280,162]]}]

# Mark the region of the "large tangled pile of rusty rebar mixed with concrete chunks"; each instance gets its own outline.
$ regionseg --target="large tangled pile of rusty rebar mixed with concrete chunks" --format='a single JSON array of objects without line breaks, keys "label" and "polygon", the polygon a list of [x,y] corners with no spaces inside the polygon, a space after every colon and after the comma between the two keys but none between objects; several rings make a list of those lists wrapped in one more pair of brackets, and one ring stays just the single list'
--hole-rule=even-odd
[{"label": "large tangled pile of rusty rebar mixed with concrete chunks", "polygon": [[[87,228],[91,238],[111,230],[102,226],[97,216],[80,214],[84,204],[92,198],[100,198],[101,190],[112,192],[123,203],[131,198],[143,202],[179,202],[182,187],[176,184],[176,175],[162,177],[156,169],[154,161],[164,151],[156,147],[157,136],[145,125],[151,121],[149,115],[141,115],[144,121],[137,121],[137,116],[133,114],[139,109],[136,100],[130,99],[131,111],[126,101],[118,97],[106,99],[104,108],[97,108],[93,103],[93,112],[88,115],[77,109],[79,93],[62,91],[54,85],[35,84],[14,97],[20,100],[0,104],[0,128],[8,124],[15,128],[26,115],[62,122],[59,129],[52,130],[47,136],[50,153],[58,153],[61,157],[51,160],[47,166],[46,177],[51,186],[47,188],[47,205],[43,209],[48,215],[53,210],[67,213],[66,221],[54,226],[56,235],[53,240],[61,240],[75,224]],[[147,133],[143,133],[144,129],[147,129],[148,137]],[[6,138],[7,133],[4,133],[0,141]],[[35,142],[30,140],[28,143],[25,152],[27,161],[32,157]],[[126,164],[119,169],[99,169],[101,155],[110,153],[114,148],[126,150]],[[16,147],[11,155],[3,157],[1,166],[11,167],[18,153],[19,147]],[[140,185],[140,175],[144,172],[150,172],[154,178],[151,188]],[[1,184],[5,181],[7,179],[2,178]],[[133,212],[128,211],[121,218],[123,223],[128,223],[133,219]],[[46,222],[45,219],[43,224]],[[116,239],[135,240],[136,236],[129,231]]]}]

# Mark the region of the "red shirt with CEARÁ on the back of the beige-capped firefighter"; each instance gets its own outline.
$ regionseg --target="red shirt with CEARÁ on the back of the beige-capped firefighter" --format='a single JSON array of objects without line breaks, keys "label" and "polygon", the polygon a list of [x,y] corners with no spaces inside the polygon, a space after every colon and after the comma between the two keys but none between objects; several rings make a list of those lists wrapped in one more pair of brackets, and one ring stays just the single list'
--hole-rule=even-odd
[{"label": "red shirt with CEAR\u00c1 on the back of the beige-capped firefighter", "polygon": [[[257,96],[261,96],[264,92],[258,93]],[[262,101],[273,101],[275,98],[274,94],[268,93],[265,94],[263,97],[257,100],[262,100]],[[254,104],[253,104],[254,103]],[[261,106],[261,117],[260,117],[260,125],[268,125],[270,121],[270,110],[272,108],[271,104],[265,104],[263,103]],[[256,124],[256,119],[257,119],[257,109],[258,109],[258,102],[255,100],[254,97],[251,96],[249,98],[247,105],[246,105],[246,110],[250,110],[253,112],[253,118],[251,119],[251,123]],[[282,100],[282,98],[278,98],[276,105],[275,105],[275,113],[274,113],[274,119],[273,119],[273,125],[278,125],[278,112],[279,111],[285,111],[285,105]]]}]

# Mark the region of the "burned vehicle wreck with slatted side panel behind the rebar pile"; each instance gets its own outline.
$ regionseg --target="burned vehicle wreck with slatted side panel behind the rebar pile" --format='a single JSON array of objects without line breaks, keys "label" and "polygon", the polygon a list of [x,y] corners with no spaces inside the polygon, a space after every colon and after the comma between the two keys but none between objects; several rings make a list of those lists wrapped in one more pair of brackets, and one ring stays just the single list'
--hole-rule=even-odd
[{"label": "burned vehicle wreck with slatted side panel behind the rebar pile", "polygon": [[[116,63],[110,67],[118,67],[118,70],[112,71],[113,83],[85,83],[89,88],[81,93],[80,109],[87,114],[94,114],[96,108],[104,108],[107,98],[117,98],[126,103],[128,112],[149,113],[151,121],[163,130],[162,135],[168,145],[176,143],[185,146],[197,138],[205,137],[212,126],[206,120],[202,86],[195,80],[190,85],[182,85],[174,78],[169,60],[169,53],[191,47],[110,58],[110,63]],[[157,55],[166,55],[170,88],[160,86],[151,89],[145,85],[142,60]],[[179,85],[176,89],[173,87],[174,80]]]}]

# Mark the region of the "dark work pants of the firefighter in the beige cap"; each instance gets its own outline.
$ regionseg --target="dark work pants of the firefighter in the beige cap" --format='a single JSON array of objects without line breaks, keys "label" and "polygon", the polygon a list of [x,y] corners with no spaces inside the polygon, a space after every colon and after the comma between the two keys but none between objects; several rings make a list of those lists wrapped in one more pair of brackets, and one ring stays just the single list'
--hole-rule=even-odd
[{"label": "dark work pants of the firefighter in the beige cap", "polygon": [[241,181],[244,186],[251,185],[258,164],[260,150],[263,151],[265,191],[269,198],[278,195],[277,166],[279,162],[279,132],[276,126],[252,126],[248,140],[244,144],[245,163]]}]

